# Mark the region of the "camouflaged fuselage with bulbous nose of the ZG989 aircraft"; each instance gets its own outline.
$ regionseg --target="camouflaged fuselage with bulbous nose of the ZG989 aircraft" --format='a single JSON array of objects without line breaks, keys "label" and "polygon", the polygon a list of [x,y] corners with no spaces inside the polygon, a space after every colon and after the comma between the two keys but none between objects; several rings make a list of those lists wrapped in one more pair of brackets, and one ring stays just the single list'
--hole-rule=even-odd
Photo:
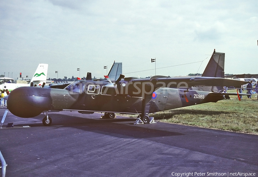
[{"label": "camouflaged fuselage with bulbous nose of the ZG989 aircraft", "polygon": [[[108,82],[81,80],[66,89],[19,87],[9,94],[7,106],[15,116],[30,118],[46,110],[74,110],[84,114],[141,114],[143,100],[149,105],[148,112],[153,113],[224,99],[223,96],[209,95],[209,92],[168,87],[157,88],[143,98],[138,94],[116,93],[113,88],[105,92],[107,84]],[[118,90],[121,90],[120,87]]]}]

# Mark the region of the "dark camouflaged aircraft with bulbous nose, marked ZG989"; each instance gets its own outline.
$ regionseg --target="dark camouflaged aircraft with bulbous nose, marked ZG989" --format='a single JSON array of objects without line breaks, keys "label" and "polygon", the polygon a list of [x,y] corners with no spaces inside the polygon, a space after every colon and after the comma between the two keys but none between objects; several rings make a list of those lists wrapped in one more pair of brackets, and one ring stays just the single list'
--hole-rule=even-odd
[{"label": "dark camouflaged aircraft with bulbous nose, marked ZG989", "polygon": [[[150,123],[148,114],[185,106],[217,102],[224,95],[223,86],[243,85],[247,82],[225,79],[225,53],[212,53],[210,61],[199,77],[167,77],[156,75],[149,79],[124,77],[115,82],[93,81],[91,78],[77,80],[64,89],[20,87],[7,98],[7,108],[15,116],[32,118],[44,114],[45,126],[52,123],[50,110],[78,111],[82,114],[104,112],[114,118],[115,113],[139,114],[143,123]],[[247,94],[241,94],[247,95]]]}]

